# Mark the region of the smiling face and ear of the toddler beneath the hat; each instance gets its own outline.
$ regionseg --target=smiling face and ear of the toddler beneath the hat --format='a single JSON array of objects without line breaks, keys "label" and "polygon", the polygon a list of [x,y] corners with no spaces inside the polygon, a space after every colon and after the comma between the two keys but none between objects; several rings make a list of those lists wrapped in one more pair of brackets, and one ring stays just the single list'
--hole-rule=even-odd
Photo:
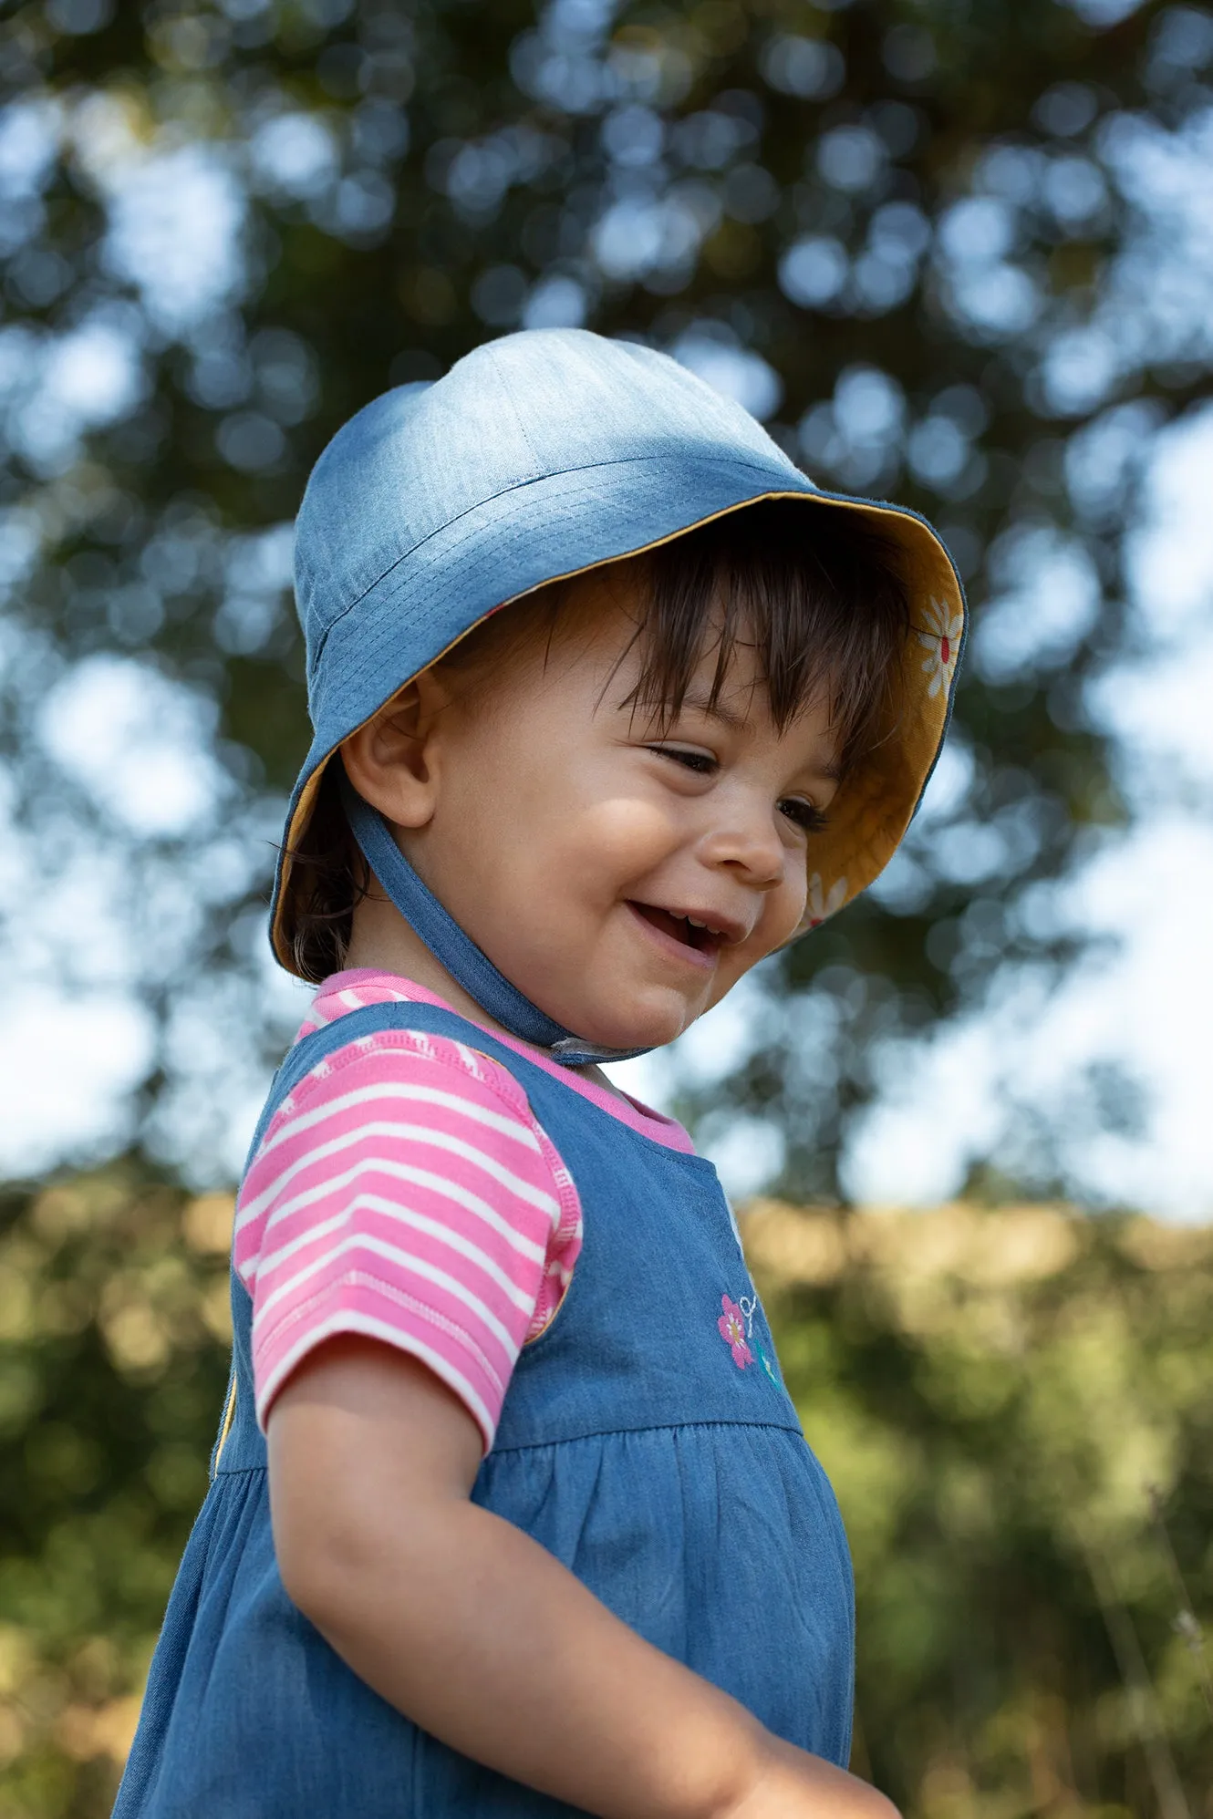
[{"label": "smiling face and ear of the toddler beneath the hat", "polygon": [[526,651],[455,693],[422,677],[409,711],[351,740],[375,771],[358,764],[356,784],[549,1017],[657,1046],[797,930],[838,749],[822,704],[775,729],[744,648],[717,711],[709,653],[658,737],[624,706],[640,662],[620,664],[635,631],[620,580],[591,577],[580,597],[546,664]]}]

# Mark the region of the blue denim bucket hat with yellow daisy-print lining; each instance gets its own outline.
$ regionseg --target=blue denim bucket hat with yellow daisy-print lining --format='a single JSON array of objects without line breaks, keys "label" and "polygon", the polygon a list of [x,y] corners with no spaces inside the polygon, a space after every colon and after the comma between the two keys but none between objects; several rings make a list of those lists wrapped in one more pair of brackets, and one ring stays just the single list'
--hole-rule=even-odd
[{"label": "blue denim bucket hat with yellow daisy-print lining", "polygon": [[813,506],[853,509],[900,564],[911,631],[895,728],[847,773],[813,840],[797,933],[871,884],[909,826],[951,711],[966,608],[942,542],[906,508],[813,486],[742,406],[667,355],[587,329],[526,329],[433,384],[375,398],[307,482],[295,593],[315,737],[271,902],[282,966],[298,971],[293,853],[344,739],[498,608],[767,498],[804,500],[806,540]]}]

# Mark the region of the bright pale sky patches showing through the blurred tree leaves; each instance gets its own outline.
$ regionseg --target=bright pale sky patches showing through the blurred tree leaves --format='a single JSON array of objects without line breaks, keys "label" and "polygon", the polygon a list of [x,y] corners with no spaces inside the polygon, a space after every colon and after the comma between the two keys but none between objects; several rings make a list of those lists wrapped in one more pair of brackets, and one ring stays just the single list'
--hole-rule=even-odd
[{"label": "bright pale sky patches showing through the blurred tree leaves", "polygon": [[[1115,0],[1106,4],[1115,11]],[[91,426],[138,402],[149,326],[162,337],[206,329],[222,340],[244,282],[233,247],[246,202],[231,160],[189,144],[147,147],[122,107],[102,95],[82,100],[71,116],[56,109],[31,100],[4,111],[0,191],[18,202],[36,198],[56,146],[71,138],[107,211],[102,264],[133,287],[138,307],[111,300],[58,337],[22,324],[0,329],[4,431],[47,471],[56,464],[65,471]],[[306,116],[278,120],[280,142],[249,149],[256,180],[289,176],[293,193],[318,193],[333,180],[331,147],[318,131]],[[1197,349],[1204,358],[1213,320],[1213,111],[1182,135],[1115,116],[1100,156],[1135,200],[1138,229],[1109,276],[1102,315],[1057,337],[1042,362],[1040,386],[1060,415],[1115,397],[1117,375],[1140,369],[1157,351],[1180,358]],[[1091,173],[1089,162],[1075,158],[1037,169],[1026,153],[1006,147],[986,158],[975,195],[949,211],[938,236],[940,271],[958,309],[997,317],[1026,307],[1022,275],[1006,255],[1017,198],[1028,193],[1024,186],[1057,186],[1066,176],[1069,189],[1057,206],[1089,209],[1102,195]],[[1080,178],[1086,191],[1075,198],[1069,191],[1082,189]],[[817,246],[813,269],[798,266],[787,282],[818,282],[820,256]],[[544,307],[555,307],[551,298]],[[757,355],[693,335],[675,353],[757,415],[775,407],[777,377]],[[882,438],[904,433],[902,418],[904,400],[887,380],[875,369],[851,369],[800,424],[806,464],[813,471],[815,453],[878,460]],[[951,442],[940,440],[949,426]],[[1038,888],[1033,902],[1051,928],[1098,940],[1060,984],[1007,977],[980,1013],[926,1042],[880,1051],[882,1093],[846,1155],[846,1186],[860,1202],[946,1199],[975,1155],[1015,1157],[1017,1146],[1031,1144],[1042,1115],[1060,1131],[1075,1188],[1093,1202],[1135,1204],[1177,1221],[1213,1217],[1213,407],[1189,413],[1155,442],[1137,406],[1102,411],[1098,426],[1104,442],[1093,471],[1100,460],[1115,466],[1149,447],[1129,548],[1135,655],[1089,700],[1117,742],[1133,820],[1069,879]],[[924,420],[907,440],[911,466],[927,471],[931,462],[967,458],[966,447],[953,447],[958,435],[951,418]],[[1082,486],[1080,471],[1075,484]],[[0,588],[16,589],[36,557],[36,528],[18,509],[0,533]],[[200,549],[207,535],[206,524],[193,526],[193,544],[178,540],[164,560],[180,560],[187,544]],[[238,540],[224,560],[227,600],[216,635],[238,649],[280,611],[289,526]],[[1026,637],[1064,644],[1089,622],[1082,564],[1064,549],[1035,551],[1033,560],[1046,564],[1048,586],[1033,582],[1031,571],[1009,577],[975,644],[975,660],[986,668],[1015,669]],[[236,986],[189,975],[191,931],[200,899],[222,906],[242,897],[256,855],[280,833],[284,804],[236,800],[231,773],[215,759],[213,702],[138,657],[138,618],[155,611],[155,600],[133,591],[124,609],[135,628],[131,649],[71,669],[16,618],[0,618],[0,677],[31,704],[27,737],[62,789],[35,839],[18,822],[15,777],[0,766],[7,935],[0,1171],[35,1175],[58,1162],[95,1161],[129,1139],[138,1111],[133,1090],[155,1059],[147,1002],[185,970],[162,1057],[175,1084],[151,1141],[187,1179],[207,1184],[238,1173],[266,1073],[249,1059],[247,1004]],[[940,764],[924,815],[942,824],[955,788],[957,766]],[[187,866],[171,857],[171,842],[182,837]],[[258,1017],[286,1042],[306,991],[269,960],[258,917],[246,919],[236,942],[251,957]],[[671,1051],[615,1070],[618,1082],[660,1106],[682,1082],[722,1077],[760,1030],[762,997],[757,977]],[[1080,1121],[1068,1135],[1075,1082],[1091,1062],[1140,1082],[1135,1135],[1091,1137]],[[778,1168],[778,1133],[760,1122],[722,1121],[706,1148],[735,1197]]]}]

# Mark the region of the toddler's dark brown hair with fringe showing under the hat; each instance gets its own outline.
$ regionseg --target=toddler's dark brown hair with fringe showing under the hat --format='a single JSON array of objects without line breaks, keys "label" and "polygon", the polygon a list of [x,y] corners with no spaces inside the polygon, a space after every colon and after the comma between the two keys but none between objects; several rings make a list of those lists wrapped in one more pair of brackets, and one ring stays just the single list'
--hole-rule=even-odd
[{"label": "toddler's dark brown hair with fringe showing under the hat", "polygon": [[[633,598],[642,602],[629,644],[642,648],[629,697],[637,713],[669,726],[713,649],[715,706],[746,644],[757,653],[778,731],[826,697],[844,779],[891,737],[909,606],[893,548],[846,506],[760,500],[606,568],[620,578],[629,571],[640,580]],[[576,577],[536,588],[475,626],[440,662],[462,675],[491,673],[536,638],[551,646],[576,598]],[[353,910],[367,888],[338,775],[335,755],[291,853],[291,950],[300,977],[313,982],[344,964]]]}]

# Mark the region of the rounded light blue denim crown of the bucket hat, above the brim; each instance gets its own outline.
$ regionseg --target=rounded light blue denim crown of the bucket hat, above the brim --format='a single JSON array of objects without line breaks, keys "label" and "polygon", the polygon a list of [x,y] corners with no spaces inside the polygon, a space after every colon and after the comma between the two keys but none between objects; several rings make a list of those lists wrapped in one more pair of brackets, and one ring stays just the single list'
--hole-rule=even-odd
[{"label": "rounded light blue denim crown of the bucket hat, above the brim", "polygon": [[560,473],[662,457],[753,460],[806,486],[740,404],[669,355],[587,329],[506,335],[433,384],[375,398],[326,447],[298,515],[309,675],[335,620],[464,513]]}]

